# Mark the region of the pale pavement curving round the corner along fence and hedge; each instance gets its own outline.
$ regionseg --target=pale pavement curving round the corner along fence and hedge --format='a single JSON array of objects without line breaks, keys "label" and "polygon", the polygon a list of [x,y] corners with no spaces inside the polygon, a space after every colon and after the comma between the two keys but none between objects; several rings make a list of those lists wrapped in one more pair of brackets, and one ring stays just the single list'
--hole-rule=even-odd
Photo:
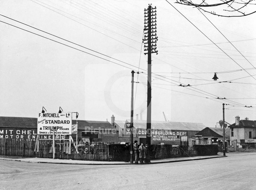
[{"label": "pale pavement curving round the corner along fence and hedge", "polygon": [[[221,155],[222,154],[222,155]],[[144,164],[161,164],[169,162],[183,162],[191,160],[203,160],[211,158],[222,158],[227,157],[223,156],[223,153],[218,153],[217,155],[212,156],[193,156],[193,157],[179,157],[179,158],[166,158],[161,160],[151,160],[151,163]],[[20,162],[29,162],[29,163],[47,163],[47,164],[80,164],[80,165],[130,165],[134,163],[130,162],[117,162],[117,161],[87,161],[87,160],[61,160],[61,159],[52,159],[52,158],[30,158],[30,157],[19,157],[19,156],[3,156],[0,155],[0,160],[12,160]],[[140,163],[139,163],[140,165]]]}]

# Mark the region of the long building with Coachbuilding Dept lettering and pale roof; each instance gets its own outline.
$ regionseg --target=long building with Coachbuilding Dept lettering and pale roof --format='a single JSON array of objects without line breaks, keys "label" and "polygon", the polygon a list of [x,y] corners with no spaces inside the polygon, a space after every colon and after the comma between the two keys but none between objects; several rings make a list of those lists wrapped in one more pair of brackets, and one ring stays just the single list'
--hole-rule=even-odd
[{"label": "long building with Coachbuilding Dept lettering and pale roof", "polygon": [[[111,123],[119,130],[119,142],[130,141],[130,120],[115,120],[111,117]],[[146,120],[133,120],[134,133],[133,141],[146,142]],[[201,123],[151,121],[151,144],[172,144],[180,145],[181,137],[187,137],[189,145],[195,143],[195,134],[206,126]],[[187,141],[182,142],[187,144]]]}]

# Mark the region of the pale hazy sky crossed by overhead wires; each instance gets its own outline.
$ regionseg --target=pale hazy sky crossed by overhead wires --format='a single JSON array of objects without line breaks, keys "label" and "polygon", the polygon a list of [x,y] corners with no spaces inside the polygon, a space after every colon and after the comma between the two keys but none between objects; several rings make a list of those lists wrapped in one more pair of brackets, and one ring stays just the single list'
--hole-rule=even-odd
[{"label": "pale hazy sky crossed by overhead wires", "polygon": [[82,120],[129,119],[134,70],[134,117],[146,120],[149,3],[158,37],[152,120],[164,121],[164,112],[169,121],[215,127],[223,103],[228,123],[256,120],[256,14],[218,17],[171,0],[0,1],[0,116],[37,117],[44,106]]}]

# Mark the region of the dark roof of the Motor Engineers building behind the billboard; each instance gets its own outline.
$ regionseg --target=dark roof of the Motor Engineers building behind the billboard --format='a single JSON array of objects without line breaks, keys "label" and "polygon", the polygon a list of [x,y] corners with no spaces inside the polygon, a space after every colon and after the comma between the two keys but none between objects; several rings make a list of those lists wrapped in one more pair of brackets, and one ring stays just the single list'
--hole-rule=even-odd
[{"label": "dark roof of the Motor Engineers building behind the billboard", "polygon": [[[93,129],[115,129],[108,121],[86,121],[86,120],[72,120],[72,124],[78,122],[78,129],[85,127],[93,127]],[[34,117],[3,117],[0,116],[0,127],[11,128],[37,128],[37,118]]]}]

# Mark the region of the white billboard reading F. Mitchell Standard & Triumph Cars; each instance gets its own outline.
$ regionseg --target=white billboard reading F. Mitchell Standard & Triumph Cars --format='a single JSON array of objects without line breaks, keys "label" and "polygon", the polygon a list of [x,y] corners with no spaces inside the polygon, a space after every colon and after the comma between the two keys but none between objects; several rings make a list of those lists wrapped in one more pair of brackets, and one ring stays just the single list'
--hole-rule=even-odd
[{"label": "white billboard reading F. Mitchell Standard & Triumph Cars", "polygon": [[37,134],[72,134],[72,113],[38,113]]}]

